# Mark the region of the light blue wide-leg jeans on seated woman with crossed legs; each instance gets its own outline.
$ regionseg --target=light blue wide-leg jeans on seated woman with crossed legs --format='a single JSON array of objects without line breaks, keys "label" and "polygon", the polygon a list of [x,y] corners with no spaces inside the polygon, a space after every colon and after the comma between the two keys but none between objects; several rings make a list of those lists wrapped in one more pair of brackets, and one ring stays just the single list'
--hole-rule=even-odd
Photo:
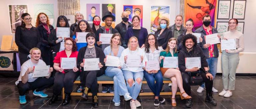
[{"label": "light blue wide-leg jeans on seated woman with crossed legs", "polygon": [[120,95],[128,93],[122,70],[116,67],[107,67],[105,75],[114,79],[115,92],[113,102],[120,102]]}]

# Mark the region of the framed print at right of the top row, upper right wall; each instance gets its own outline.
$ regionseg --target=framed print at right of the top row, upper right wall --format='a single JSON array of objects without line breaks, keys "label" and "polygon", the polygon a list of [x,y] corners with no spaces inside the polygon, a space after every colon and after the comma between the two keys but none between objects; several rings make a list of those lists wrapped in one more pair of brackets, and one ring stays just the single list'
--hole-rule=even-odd
[{"label": "framed print at right of the top row, upper right wall", "polygon": [[234,0],[233,18],[244,19],[246,0]]}]

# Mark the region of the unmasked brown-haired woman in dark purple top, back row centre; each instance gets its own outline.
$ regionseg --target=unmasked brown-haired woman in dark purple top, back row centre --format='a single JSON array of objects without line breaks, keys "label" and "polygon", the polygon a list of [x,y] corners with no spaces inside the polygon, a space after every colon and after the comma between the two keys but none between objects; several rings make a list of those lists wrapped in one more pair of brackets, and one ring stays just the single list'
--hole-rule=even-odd
[{"label": "unmasked brown-haired woman in dark purple top, back row centre", "polygon": [[124,36],[124,39],[126,40],[126,43],[128,43],[128,40],[135,36],[138,39],[139,47],[143,48],[145,46],[145,39],[148,36],[148,30],[144,27],[140,26],[140,17],[139,16],[133,16],[132,18],[132,25],[133,27],[128,28],[126,35]]}]

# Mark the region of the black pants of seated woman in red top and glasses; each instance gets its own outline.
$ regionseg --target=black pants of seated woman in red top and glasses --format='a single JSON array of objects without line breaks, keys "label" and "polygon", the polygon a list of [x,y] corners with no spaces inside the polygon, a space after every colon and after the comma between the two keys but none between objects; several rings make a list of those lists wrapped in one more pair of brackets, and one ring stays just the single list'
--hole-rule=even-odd
[{"label": "black pants of seated woman in red top and glasses", "polygon": [[64,87],[64,92],[71,93],[73,91],[74,78],[76,73],[72,69],[66,70],[66,73],[55,73],[55,80],[53,85],[53,93],[61,94],[61,90]]}]

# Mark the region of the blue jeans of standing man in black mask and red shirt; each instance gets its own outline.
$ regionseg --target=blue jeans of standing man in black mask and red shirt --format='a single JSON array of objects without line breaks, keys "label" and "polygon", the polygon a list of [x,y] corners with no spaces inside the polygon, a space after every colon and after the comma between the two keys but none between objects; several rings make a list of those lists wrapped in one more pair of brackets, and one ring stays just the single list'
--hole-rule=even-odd
[{"label": "blue jeans of standing man in black mask and red shirt", "polygon": [[[206,59],[207,63],[208,63],[208,66],[209,66],[209,72],[212,74],[213,76],[213,79],[215,78],[216,76],[216,73],[217,73],[217,64],[218,64],[218,58],[208,58]],[[205,86],[205,83],[203,82],[201,87],[204,87]]]}]

